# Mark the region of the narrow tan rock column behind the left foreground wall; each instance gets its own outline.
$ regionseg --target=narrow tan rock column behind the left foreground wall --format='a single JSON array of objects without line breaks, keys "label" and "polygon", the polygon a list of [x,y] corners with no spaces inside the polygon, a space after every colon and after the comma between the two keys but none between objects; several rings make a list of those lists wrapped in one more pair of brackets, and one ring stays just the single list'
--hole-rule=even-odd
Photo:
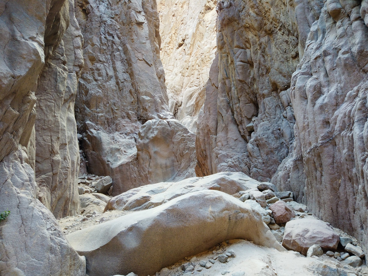
[{"label": "narrow tan rock column behind the left foreground wall", "polygon": [[55,217],[79,213],[79,148],[74,102],[83,67],[82,35],[74,15],[74,2],[64,9],[62,12],[70,18],[62,24],[68,28],[59,46],[46,56],[35,93],[38,197]]}]

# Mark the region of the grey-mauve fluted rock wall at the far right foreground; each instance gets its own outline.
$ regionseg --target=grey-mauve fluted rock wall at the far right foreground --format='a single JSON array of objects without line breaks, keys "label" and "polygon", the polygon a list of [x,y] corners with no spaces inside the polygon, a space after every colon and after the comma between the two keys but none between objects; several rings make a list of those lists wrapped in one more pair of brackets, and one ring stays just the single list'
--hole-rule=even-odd
[{"label": "grey-mauve fluted rock wall at the far right foreground", "polygon": [[[301,191],[300,201],[367,252],[368,2],[360,2],[326,1],[312,25],[291,79],[294,151],[274,183]],[[305,182],[288,181],[293,173]]]}]

